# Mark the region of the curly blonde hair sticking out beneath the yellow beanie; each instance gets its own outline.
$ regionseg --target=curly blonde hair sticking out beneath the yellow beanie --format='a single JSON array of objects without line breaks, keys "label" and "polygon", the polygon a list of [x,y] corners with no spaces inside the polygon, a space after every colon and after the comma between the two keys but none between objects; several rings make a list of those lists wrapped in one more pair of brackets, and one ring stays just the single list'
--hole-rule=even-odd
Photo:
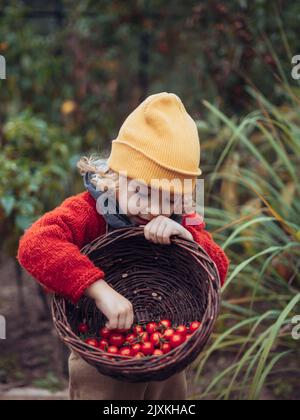
[{"label": "curly blonde hair sticking out beneath the yellow beanie", "polygon": [[[109,168],[107,165],[107,159],[100,158],[95,154],[92,154],[89,157],[83,156],[77,162],[77,168],[82,176],[88,172],[92,174],[91,183],[98,191],[119,190],[119,174]],[[190,198],[186,198],[186,196],[183,195],[183,209],[185,209],[186,206],[196,207],[195,193],[196,189],[193,191],[192,197]]]}]

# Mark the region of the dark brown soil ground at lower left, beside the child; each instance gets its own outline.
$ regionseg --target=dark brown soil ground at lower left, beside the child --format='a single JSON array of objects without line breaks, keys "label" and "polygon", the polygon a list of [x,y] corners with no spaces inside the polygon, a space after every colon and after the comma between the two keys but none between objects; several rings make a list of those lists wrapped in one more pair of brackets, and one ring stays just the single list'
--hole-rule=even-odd
[{"label": "dark brown soil ground at lower left, beside the child", "polygon": [[64,389],[67,352],[52,326],[49,297],[45,299],[26,273],[18,287],[13,259],[2,259],[0,282],[0,314],[6,318],[7,334],[0,342],[0,394],[28,385]]}]

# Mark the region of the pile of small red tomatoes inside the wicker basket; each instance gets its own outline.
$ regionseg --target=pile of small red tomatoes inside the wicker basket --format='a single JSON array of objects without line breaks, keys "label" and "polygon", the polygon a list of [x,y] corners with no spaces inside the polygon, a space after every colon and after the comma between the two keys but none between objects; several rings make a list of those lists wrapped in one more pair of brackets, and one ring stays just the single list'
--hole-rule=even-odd
[{"label": "pile of small red tomatoes inside the wicker basket", "polygon": [[142,358],[162,356],[190,339],[201,328],[198,321],[188,325],[173,326],[169,319],[135,324],[131,329],[100,329],[97,337],[89,334],[89,327],[82,323],[78,327],[81,338],[90,347],[98,348],[111,356]]}]

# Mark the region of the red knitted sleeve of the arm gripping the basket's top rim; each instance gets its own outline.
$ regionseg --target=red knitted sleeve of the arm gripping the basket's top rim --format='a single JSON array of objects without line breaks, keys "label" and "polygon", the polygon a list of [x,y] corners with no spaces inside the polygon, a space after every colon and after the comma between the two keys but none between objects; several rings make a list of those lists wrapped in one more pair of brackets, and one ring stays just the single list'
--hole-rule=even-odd
[{"label": "red knitted sleeve of the arm gripping the basket's top rim", "polygon": [[204,248],[211,259],[215,262],[221,279],[222,286],[225,283],[230,260],[223,251],[223,249],[213,240],[212,235],[205,230],[206,223],[203,218],[197,213],[185,215],[183,219],[183,226],[191,232],[194,240]]}]

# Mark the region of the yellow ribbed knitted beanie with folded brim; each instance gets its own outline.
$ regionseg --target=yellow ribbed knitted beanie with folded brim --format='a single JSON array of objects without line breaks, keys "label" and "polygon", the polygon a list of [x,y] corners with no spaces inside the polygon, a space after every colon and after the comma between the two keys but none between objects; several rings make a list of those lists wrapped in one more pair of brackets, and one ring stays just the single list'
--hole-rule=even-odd
[{"label": "yellow ribbed knitted beanie with folded brim", "polygon": [[[195,121],[180,98],[162,92],[149,96],[124,121],[112,142],[108,166],[151,185],[153,179],[179,179],[182,190],[192,192],[199,169],[200,141]],[[187,182],[184,187],[184,180]],[[153,185],[153,184],[152,184]]]}]

